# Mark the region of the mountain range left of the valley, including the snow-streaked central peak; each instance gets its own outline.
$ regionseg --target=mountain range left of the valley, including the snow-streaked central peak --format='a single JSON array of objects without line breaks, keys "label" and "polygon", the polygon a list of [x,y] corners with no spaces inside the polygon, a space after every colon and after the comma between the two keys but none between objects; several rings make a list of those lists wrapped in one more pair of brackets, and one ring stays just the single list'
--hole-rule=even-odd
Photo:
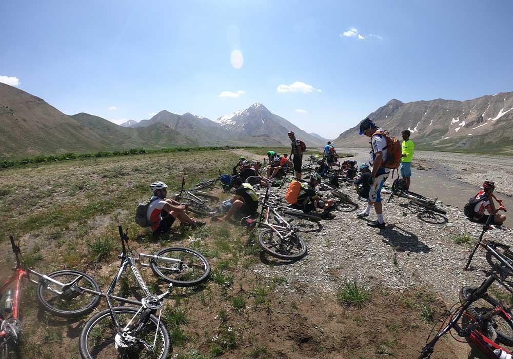
[{"label": "mountain range left of the valley, including the snow-streaked central peak", "polygon": [[[236,114],[236,115],[235,115]],[[197,146],[282,146],[289,145],[289,130],[309,147],[327,140],[311,136],[265,106],[228,115],[228,128],[191,113],[173,114],[163,110],[139,123],[122,126],[88,113],[66,115],[42,98],[0,83],[0,157],[55,154],[63,152],[113,151],[144,147],[147,149]],[[226,116],[222,116],[223,118]],[[258,120],[257,120],[258,117]],[[251,122],[257,122],[255,126]]]}]

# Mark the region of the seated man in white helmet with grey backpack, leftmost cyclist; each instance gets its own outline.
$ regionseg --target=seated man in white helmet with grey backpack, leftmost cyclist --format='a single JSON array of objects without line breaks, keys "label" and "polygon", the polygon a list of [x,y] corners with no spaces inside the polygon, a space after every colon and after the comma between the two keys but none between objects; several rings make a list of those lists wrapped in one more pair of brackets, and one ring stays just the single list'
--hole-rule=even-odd
[{"label": "seated man in white helmet with grey backpack, leftmost cyclist", "polygon": [[179,202],[166,198],[167,185],[164,182],[157,181],[150,185],[153,192],[153,197],[150,199],[146,218],[151,223],[151,229],[155,234],[162,234],[169,231],[178,218],[181,223],[188,223],[192,228],[198,228],[206,225],[206,222],[193,221],[187,215],[185,210],[186,205],[181,205]]}]

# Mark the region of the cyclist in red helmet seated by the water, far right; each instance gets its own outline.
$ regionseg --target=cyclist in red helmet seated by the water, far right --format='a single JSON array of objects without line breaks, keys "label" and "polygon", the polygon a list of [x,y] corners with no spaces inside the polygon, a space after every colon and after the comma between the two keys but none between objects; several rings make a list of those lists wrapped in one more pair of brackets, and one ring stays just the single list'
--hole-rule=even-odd
[{"label": "cyclist in red helmet seated by the water, far right", "polygon": [[[502,200],[497,198],[494,194],[495,182],[485,181],[483,183],[483,190],[480,191],[475,197],[470,198],[467,205],[465,205],[465,215],[472,222],[486,223],[488,214],[493,214],[494,219],[492,225],[501,226],[506,221],[505,214],[497,214],[500,210],[505,210]],[[494,198],[499,203],[499,208],[495,208]]]}]

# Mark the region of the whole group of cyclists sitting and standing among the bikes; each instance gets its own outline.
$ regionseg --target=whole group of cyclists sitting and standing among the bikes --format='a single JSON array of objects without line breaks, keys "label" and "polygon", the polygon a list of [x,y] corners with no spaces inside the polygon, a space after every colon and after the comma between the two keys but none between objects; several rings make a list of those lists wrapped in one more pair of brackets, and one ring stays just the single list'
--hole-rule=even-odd
[{"label": "whole group of cyclists sitting and standing among the bikes", "polygon": [[[367,225],[380,229],[385,228],[385,218],[383,215],[383,206],[381,198],[381,190],[387,180],[390,171],[397,168],[397,164],[390,166],[390,157],[394,155],[394,144],[391,142],[388,132],[383,128],[379,128],[369,118],[364,119],[360,124],[360,134],[370,138],[370,158],[368,163],[363,163],[357,168],[356,161],[344,161],[339,163],[337,152],[331,142],[328,141],[324,147],[322,158],[317,161],[317,168],[310,175],[307,181],[303,181],[302,163],[303,153],[306,148],[304,143],[297,137],[294,132],[290,131],[288,136],[291,140],[291,157],[287,153],[280,155],[274,150],[267,152],[267,161],[269,165],[264,174],[262,174],[262,162],[257,160],[249,161],[244,156],[239,158],[238,163],[233,167],[230,179],[230,187],[234,188],[234,194],[223,203],[223,211],[211,214],[212,221],[226,221],[229,218],[240,215],[248,216],[257,213],[259,204],[259,194],[253,186],[266,186],[265,179],[274,181],[280,176],[287,174],[289,170],[293,170],[295,179],[301,182],[301,188],[298,188],[297,200],[294,197],[291,208],[302,210],[305,213],[323,210],[322,214],[328,214],[328,210],[333,208],[334,202],[331,200],[323,200],[315,190],[321,183],[323,177],[326,177],[329,183],[338,186],[340,181],[350,182],[353,188],[358,192],[360,197],[367,199],[366,208],[357,214],[357,217],[366,218],[370,215],[370,211],[374,208],[377,214],[375,221],[368,221]],[[403,143],[400,147],[402,161],[400,172],[405,180],[406,190],[410,187],[411,162],[415,145],[409,139],[410,131],[402,132]],[[312,157],[313,158],[313,157]],[[338,170],[332,170],[334,166],[338,166]],[[259,179],[262,178],[262,179]],[[249,178],[249,179],[248,179]],[[163,182],[154,182],[150,185],[153,192],[147,210],[147,220],[151,228],[156,233],[164,233],[169,230],[175,219],[182,224],[189,224],[192,228],[204,226],[206,222],[195,221],[186,213],[187,205],[180,204],[166,197],[167,185]],[[506,220],[504,214],[498,214],[498,211],[505,210],[502,200],[494,195],[495,184],[491,181],[483,183],[483,190],[476,196],[469,199],[465,205],[464,213],[469,220],[483,223],[486,221],[487,213],[494,214],[495,225],[502,225]],[[494,199],[500,204],[496,207]],[[288,201],[288,200],[287,200]]]}]

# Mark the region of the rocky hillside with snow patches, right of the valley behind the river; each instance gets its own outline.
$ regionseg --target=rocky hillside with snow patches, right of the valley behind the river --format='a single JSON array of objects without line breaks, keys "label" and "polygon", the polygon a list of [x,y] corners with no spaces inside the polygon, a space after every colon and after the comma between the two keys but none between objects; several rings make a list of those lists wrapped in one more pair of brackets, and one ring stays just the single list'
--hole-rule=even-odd
[{"label": "rocky hillside with snow patches, right of the valley behind the river", "polygon": [[[435,99],[402,103],[397,99],[368,115],[391,134],[409,129],[417,148],[513,153],[513,92],[486,95],[466,101]],[[333,143],[340,147],[366,147],[359,124],[341,133]]]}]

